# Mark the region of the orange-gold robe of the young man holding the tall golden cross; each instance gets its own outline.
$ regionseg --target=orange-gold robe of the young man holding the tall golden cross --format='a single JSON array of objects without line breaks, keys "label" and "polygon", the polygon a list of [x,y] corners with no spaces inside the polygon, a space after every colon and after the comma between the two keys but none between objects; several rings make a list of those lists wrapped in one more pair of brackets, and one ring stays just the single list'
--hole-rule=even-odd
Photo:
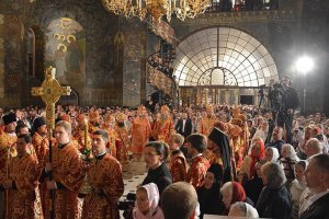
[{"label": "orange-gold robe of the young man holding the tall golden cross", "polygon": [[[57,184],[53,199],[55,218],[78,219],[78,192],[83,178],[79,150],[72,142],[63,148],[55,146],[53,163],[55,165],[53,178]],[[49,218],[49,201],[45,203],[44,215],[45,218]]]}]

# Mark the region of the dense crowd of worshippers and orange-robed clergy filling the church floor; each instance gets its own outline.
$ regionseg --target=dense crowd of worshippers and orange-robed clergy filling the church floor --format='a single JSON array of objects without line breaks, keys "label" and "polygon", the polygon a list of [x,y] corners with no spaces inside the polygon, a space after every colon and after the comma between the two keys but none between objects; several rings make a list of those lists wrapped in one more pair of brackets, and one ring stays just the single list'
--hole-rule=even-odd
[{"label": "dense crowd of worshippers and orange-robed clergy filling the church floor", "polygon": [[253,106],[58,105],[53,135],[45,114],[0,108],[3,218],[117,219],[122,165],[134,160],[148,172],[125,218],[329,218],[329,119],[319,113],[294,115],[288,131]]}]

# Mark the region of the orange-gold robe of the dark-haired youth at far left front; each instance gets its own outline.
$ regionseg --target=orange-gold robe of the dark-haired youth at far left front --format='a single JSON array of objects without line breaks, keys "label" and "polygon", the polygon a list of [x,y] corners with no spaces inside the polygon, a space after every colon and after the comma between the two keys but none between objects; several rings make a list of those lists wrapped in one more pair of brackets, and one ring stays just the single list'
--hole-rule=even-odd
[{"label": "orange-gold robe of the dark-haired youth at far left front", "polygon": [[8,218],[34,219],[35,189],[39,176],[37,160],[29,153],[11,158],[8,160],[8,169],[9,178],[7,169],[1,170],[1,183],[5,180],[13,182],[13,187],[9,189]]}]

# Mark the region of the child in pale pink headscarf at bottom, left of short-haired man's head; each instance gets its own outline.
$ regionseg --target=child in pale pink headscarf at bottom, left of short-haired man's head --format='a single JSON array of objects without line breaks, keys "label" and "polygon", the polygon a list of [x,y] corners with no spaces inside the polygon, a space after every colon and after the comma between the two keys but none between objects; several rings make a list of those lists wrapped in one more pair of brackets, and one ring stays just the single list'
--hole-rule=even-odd
[{"label": "child in pale pink headscarf at bottom, left of short-haired man's head", "polygon": [[136,205],[133,211],[134,219],[164,219],[159,207],[159,191],[156,184],[140,186],[136,192]]}]

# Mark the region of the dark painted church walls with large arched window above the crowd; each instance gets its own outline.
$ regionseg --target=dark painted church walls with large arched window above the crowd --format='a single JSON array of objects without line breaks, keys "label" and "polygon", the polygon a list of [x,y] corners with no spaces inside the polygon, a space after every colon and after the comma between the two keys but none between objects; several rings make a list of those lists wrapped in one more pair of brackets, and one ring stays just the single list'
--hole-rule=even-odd
[{"label": "dark painted church walls with large arched window above the crowd", "polygon": [[[305,111],[328,113],[327,1],[209,2],[195,18],[155,20],[116,15],[106,1],[3,0],[0,104],[42,104],[31,88],[53,66],[72,89],[64,104],[137,107],[160,95],[181,106],[258,105],[260,87],[288,74],[299,96],[306,90]],[[307,76],[295,66],[302,56],[315,62]]]}]

